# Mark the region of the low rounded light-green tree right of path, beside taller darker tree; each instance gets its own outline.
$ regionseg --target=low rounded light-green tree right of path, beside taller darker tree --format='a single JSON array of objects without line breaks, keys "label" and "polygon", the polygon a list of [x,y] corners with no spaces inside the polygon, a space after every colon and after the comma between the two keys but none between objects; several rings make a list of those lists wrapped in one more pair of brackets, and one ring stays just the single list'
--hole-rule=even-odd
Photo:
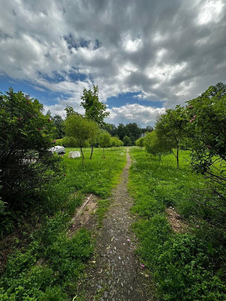
[{"label": "low rounded light-green tree right of path, beside taller darker tree", "polygon": [[145,146],[145,150],[149,154],[159,156],[159,160],[161,160],[161,156],[167,155],[171,152],[171,145],[165,143],[163,139],[158,137],[155,131],[147,133],[147,135],[143,137],[143,144]]}]

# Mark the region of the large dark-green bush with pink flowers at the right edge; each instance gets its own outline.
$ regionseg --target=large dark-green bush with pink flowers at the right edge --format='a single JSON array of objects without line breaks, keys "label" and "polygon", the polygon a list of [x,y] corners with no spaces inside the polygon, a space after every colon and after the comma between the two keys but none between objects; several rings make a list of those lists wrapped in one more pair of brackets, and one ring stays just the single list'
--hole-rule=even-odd
[{"label": "large dark-green bush with pink flowers at the right edge", "polygon": [[[222,83],[220,83],[222,84]],[[197,199],[226,218],[226,91],[216,86],[188,102],[187,134],[193,140],[192,170],[202,174],[206,188]],[[220,92],[220,93],[219,93]],[[219,93],[219,94],[218,94]],[[221,98],[219,98],[221,97]]]}]

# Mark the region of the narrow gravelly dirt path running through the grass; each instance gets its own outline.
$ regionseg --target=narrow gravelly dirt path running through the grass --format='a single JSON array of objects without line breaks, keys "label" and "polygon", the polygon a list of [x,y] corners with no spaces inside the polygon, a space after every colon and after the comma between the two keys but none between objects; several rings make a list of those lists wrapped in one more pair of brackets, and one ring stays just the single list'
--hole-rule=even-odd
[{"label": "narrow gravelly dirt path running through the grass", "polygon": [[145,267],[141,267],[134,254],[136,237],[129,229],[135,218],[129,211],[132,198],[126,187],[131,165],[128,150],[126,156],[127,164],[121,174],[120,184],[112,191],[112,205],[107,219],[103,222],[103,229],[95,236],[95,262],[86,271],[89,275],[84,287],[86,300],[153,300],[147,292],[150,279],[144,276]]}]

